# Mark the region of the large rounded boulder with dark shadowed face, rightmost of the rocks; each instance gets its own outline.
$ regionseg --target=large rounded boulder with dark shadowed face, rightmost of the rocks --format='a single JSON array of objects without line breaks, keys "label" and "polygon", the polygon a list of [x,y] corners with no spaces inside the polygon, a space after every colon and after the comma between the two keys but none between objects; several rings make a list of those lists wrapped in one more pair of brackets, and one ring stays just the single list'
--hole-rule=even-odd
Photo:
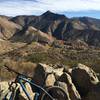
[{"label": "large rounded boulder with dark shadowed face, rightmost of the rocks", "polygon": [[83,64],[78,64],[77,67],[70,69],[69,72],[81,96],[86,96],[92,87],[99,82],[96,73]]}]

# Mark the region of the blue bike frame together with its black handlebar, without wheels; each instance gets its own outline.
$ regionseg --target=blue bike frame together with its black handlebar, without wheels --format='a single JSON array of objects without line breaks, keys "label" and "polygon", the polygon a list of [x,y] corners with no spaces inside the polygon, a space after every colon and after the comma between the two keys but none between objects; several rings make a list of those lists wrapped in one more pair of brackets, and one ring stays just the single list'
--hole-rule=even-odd
[{"label": "blue bike frame together with its black handlebar, without wheels", "polygon": [[[20,84],[20,86],[22,87],[22,89],[23,89],[25,95],[27,96],[27,98],[28,98],[29,100],[31,100],[31,97],[30,97],[30,95],[28,94],[28,92],[27,92],[27,90],[26,90],[26,88],[25,88],[25,85],[23,84],[23,81],[28,82],[28,83],[31,84],[33,87],[36,87],[36,88],[40,89],[41,91],[43,91],[44,93],[46,93],[46,94],[51,98],[51,100],[54,100],[54,98],[53,98],[44,88],[42,88],[41,86],[35,84],[34,82],[32,82],[32,81],[30,80],[32,77],[28,77],[28,76],[26,76],[26,75],[24,75],[24,74],[21,74],[21,73],[15,71],[14,69],[9,68],[9,67],[6,66],[6,65],[3,66],[3,67],[5,67],[9,72],[14,72],[14,73],[17,75],[17,77],[16,77],[16,79],[15,79],[15,83],[19,83],[19,84]],[[30,79],[29,79],[29,78],[30,78]],[[41,94],[41,92],[40,92],[40,93],[36,93],[34,99],[35,99],[35,100],[38,100],[40,94]],[[11,94],[10,100],[13,100],[13,93]]]}]

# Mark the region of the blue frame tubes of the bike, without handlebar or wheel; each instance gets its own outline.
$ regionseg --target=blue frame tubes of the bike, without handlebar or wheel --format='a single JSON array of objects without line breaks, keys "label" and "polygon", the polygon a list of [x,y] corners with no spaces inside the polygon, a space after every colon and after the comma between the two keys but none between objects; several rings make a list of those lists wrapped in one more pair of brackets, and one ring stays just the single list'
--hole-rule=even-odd
[{"label": "blue frame tubes of the bike, without handlebar or wheel", "polygon": [[[29,100],[32,100],[32,99],[31,99],[29,93],[27,92],[27,90],[26,90],[26,88],[25,88],[25,85],[23,84],[23,81],[28,82],[28,83],[31,84],[32,86],[39,88],[40,90],[42,90],[43,92],[45,92],[45,93],[51,98],[51,100],[54,100],[54,98],[53,98],[44,88],[42,88],[41,86],[39,86],[39,85],[37,85],[37,84],[31,82],[31,80],[29,80],[29,79],[27,79],[27,78],[25,78],[25,77],[23,77],[23,76],[21,76],[21,75],[18,75],[17,78],[16,78],[16,80],[17,80],[17,83],[19,83],[20,86],[22,87],[22,89],[23,89],[25,95],[27,96],[27,98],[28,98]],[[39,96],[40,96],[40,93],[36,93],[36,94],[35,94],[34,100],[38,100],[38,99],[39,99]],[[12,96],[11,96],[10,100],[12,100]]]}]

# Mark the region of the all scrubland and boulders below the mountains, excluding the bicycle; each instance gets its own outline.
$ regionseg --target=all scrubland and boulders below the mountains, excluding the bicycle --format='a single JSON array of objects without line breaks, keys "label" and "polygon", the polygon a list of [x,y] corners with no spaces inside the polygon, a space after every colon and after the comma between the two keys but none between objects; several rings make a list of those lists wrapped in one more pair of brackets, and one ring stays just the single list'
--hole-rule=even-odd
[{"label": "all scrubland and boulders below the mountains, excluding the bicycle", "polygon": [[[59,97],[61,91],[58,90],[55,94],[53,90],[52,93],[58,96],[59,100],[64,100],[62,98],[66,98],[65,100],[100,99],[99,48],[88,47],[80,41],[76,42],[77,45],[57,40],[52,44],[7,40],[0,41],[0,43],[1,96],[9,87],[8,81],[16,77],[14,73],[2,67],[7,65],[20,73],[31,76],[32,81],[45,89],[59,86],[66,93],[66,97],[64,95]],[[16,100],[27,100],[22,88],[18,86],[20,92]],[[26,84],[26,87],[33,100],[36,89],[31,88],[29,84]]]}]

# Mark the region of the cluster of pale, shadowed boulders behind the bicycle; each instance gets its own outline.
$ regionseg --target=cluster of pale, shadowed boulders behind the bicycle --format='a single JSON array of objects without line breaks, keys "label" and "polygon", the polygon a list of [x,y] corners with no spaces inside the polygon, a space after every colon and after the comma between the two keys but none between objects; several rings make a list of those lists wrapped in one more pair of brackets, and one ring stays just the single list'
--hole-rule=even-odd
[{"label": "cluster of pale, shadowed boulders behind the bicycle", "polygon": [[[96,72],[80,63],[69,69],[64,66],[54,67],[39,63],[34,70],[32,82],[45,89],[53,86],[60,87],[66,93],[66,99],[59,97],[59,100],[100,100],[100,81]],[[2,86],[1,83],[0,85]],[[27,83],[26,87],[33,100],[36,89]],[[52,92],[59,96],[59,91]],[[21,90],[20,97],[21,100],[27,100]]]}]

